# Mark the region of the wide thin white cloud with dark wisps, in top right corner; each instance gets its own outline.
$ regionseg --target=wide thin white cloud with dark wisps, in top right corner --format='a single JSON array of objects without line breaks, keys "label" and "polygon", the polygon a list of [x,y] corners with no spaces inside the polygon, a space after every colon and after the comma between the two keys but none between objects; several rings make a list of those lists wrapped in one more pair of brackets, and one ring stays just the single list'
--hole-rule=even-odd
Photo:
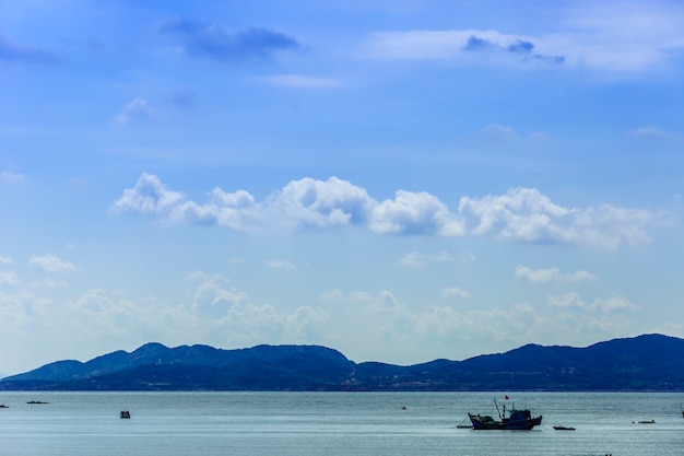
[{"label": "wide thin white cloud with dark wisps, in top right corner", "polygon": [[673,3],[580,2],[551,24],[553,33],[412,30],[376,33],[362,45],[373,59],[459,65],[587,68],[635,73],[669,63],[684,48],[684,12]]}]

